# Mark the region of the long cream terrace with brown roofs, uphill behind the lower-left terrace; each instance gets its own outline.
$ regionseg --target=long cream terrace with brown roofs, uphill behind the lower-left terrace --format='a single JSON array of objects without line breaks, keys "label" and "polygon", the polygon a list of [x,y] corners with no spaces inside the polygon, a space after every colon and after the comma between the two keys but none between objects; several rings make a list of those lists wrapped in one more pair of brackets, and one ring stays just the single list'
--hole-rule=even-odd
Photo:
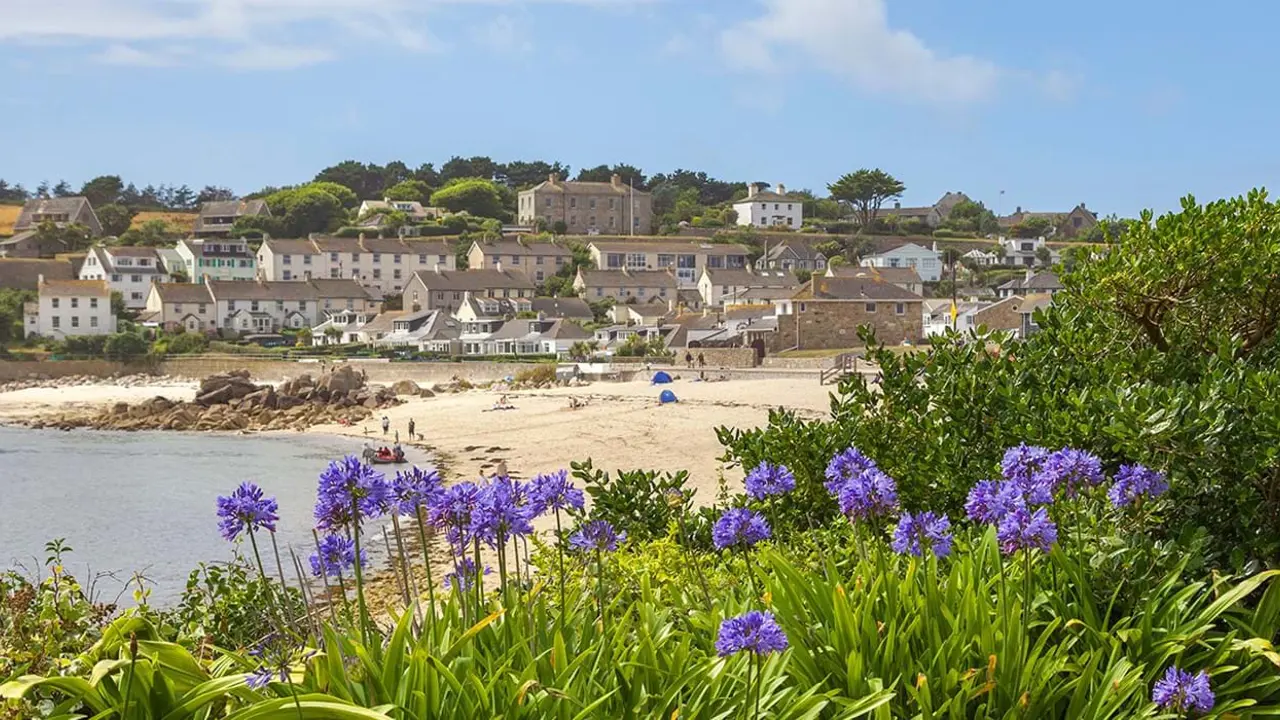
[{"label": "long cream terrace with brown roofs, uphill behind the lower-left terrace", "polygon": [[457,268],[453,249],[443,240],[321,237],[262,242],[259,277],[266,281],[355,278],[381,295],[399,295],[413,273]]}]

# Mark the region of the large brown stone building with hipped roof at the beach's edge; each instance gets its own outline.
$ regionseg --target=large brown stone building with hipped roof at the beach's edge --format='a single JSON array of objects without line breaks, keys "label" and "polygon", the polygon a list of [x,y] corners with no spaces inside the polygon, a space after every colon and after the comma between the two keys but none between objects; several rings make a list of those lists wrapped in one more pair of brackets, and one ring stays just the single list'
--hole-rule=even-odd
[{"label": "large brown stone building with hipped roof at the beach's edge", "polygon": [[833,350],[861,345],[869,325],[886,345],[915,343],[924,336],[919,295],[874,278],[815,275],[788,300],[778,301],[772,350]]}]

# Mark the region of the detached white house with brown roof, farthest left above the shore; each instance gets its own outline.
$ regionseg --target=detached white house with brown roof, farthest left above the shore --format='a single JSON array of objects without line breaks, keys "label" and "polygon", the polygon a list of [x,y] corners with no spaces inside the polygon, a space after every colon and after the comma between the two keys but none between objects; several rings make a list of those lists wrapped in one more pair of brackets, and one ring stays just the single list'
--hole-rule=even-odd
[{"label": "detached white house with brown roof, farthest left above the shore", "polygon": [[23,337],[64,340],[115,332],[106,281],[55,281],[41,275],[36,284],[38,300],[23,305]]}]

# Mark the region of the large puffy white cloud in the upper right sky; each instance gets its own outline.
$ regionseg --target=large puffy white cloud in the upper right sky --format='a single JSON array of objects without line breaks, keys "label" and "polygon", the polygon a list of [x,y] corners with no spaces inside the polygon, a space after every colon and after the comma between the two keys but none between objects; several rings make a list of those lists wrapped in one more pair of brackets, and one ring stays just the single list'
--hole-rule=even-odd
[{"label": "large puffy white cloud in the upper right sky", "polygon": [[943,55],[890,27],[884,0],[764,0],[764,14],[721,33],[735,68],[780,72],[797,53],[855,87],[904,100],[968,104],[995,95],[1004,72],[989,60]]}]

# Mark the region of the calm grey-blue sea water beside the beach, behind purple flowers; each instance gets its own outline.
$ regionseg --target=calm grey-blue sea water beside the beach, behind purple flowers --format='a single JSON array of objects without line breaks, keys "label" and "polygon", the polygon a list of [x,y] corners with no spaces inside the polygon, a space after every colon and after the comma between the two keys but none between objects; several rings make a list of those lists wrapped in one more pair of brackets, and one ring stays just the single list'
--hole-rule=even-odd
[{"label": "calm grey-blue sea water beside the beach, behind purple flowers", "polygon": [[[280,551],[306,562],[316,478],[329,460],[360,454],[362,441],[321,436],[219,436],[27,430],[0,427],[0,569],[44,562],[45,543],[65,538],[67,566],[96,596],[113,601],[134,571],[152,603],[182,594],[202,560],[229,560],[218,534],[215,500],[242,480],[280,505]],[[410,455],[422,462],[425,455]],[[269,541],[261,546],[274,568]],[[244,552],[251,553],[248,546]],[[114,574],[114,579],[101,575]],[[293,573],[285,565],[292,580]],[[131,605],[128,592],[120,602]]]}]

